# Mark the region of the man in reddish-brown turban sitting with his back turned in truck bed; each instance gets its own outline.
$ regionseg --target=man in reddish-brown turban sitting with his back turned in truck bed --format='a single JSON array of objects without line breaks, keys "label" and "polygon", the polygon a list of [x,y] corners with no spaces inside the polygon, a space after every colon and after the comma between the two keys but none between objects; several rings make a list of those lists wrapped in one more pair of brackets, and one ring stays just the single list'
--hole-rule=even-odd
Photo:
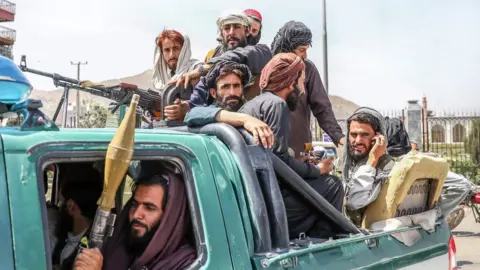
[{"label": "man in reddish-brown turban sitting with his back turned in truck bed", "polygon": [[[288,153],[290,111],[295,110],[297,100],[305,93],[304,83],[304,61],[293,53],[279,53],[262,71],[262,94],[247,102],[239,112],[264,121],[274,133],[272,151],[338,211],[342,211],[344,190],[341,181],[329,174],[333,169],[332,159],[310,164]],[[301,233],[316,238],[336,234],[335,225],[325,215],[312,211],[301,196],[287,188],[282,188],[282,195],[290,238]]]}]

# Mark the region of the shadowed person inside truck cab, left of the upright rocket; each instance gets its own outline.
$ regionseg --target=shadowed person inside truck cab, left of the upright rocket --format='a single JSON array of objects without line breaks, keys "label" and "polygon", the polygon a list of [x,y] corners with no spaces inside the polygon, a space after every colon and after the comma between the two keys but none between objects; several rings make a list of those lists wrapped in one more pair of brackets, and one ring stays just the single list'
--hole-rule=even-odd
[{"label": "shadowed person inside truck cab, left of the upright rocket", "polygon": [[80,240],[88,236],[97,211],[97,200],[103,189],[103,177],[90,164],[65,166],[63,200],[54,230],[52,265],[72,269]]}]

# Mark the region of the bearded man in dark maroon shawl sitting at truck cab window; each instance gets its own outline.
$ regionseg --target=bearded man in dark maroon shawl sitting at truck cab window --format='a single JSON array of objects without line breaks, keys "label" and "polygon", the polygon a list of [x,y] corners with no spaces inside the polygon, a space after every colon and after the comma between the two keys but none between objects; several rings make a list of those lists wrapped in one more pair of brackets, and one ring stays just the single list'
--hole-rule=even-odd
[{"label": "bearded man in dark maroon shawl sitting at truck cab window", "polygon": [[104,246],[82,249],[76,270],[184,269],[197,253],[187,240],[190,215],[185,186],[173,174],[143,176]]}]

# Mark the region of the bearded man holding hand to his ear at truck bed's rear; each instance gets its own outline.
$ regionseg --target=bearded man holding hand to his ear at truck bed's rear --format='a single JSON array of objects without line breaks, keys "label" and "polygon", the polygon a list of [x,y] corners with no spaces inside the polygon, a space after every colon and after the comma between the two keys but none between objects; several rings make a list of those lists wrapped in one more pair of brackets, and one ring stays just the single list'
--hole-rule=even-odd
[{"label": "bearded man holding hand to his ear at truck bed's rear", "polygon": [[373,202],[395,165],[387,153],[387,129],[383,116],[374,109],[357,109],[347,120],[342,178],[347,185],[346,211],[357,225],[365,207]]}]

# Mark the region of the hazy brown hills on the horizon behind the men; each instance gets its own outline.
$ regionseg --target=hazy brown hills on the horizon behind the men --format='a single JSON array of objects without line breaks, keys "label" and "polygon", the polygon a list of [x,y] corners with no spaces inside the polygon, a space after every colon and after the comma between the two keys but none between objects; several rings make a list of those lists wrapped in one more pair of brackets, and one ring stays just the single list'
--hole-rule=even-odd
[{"label": "hazy brown hills on the horizon behind the men", "polygon": [[[138,85],[139,88],[148,89],[152,88],[151,79],[152,79],[153,70],[149,69],[146,70],[138,75],[120,78],[120,79],[112,79],[103,81],[104,85],[115,85],[119,84],[120,82],[131,83]],[[39,89],[34,89],[30,98],[33,99],[40,99],[43,102],[43,109],[42,111],[46,113],[49,117],[53,117],[55,113],[55,109],[57,108],[58,102],[62,97],[63,89],[59,88],[56,90],[51,91],[44,91]],[[69,100],[74,101],[77,96],[76,90],[70,90],[69,93]],[[90,93],[80,91],[80,98],[85,99],[93,99],[97,101],[97,103],[107,106],[111,100],[91,95]],[[330,96],[330,101],[332,102],[333,111],[337,119],[347,119],[359,106],[349,100],[346,100],[339,96]]]}]

